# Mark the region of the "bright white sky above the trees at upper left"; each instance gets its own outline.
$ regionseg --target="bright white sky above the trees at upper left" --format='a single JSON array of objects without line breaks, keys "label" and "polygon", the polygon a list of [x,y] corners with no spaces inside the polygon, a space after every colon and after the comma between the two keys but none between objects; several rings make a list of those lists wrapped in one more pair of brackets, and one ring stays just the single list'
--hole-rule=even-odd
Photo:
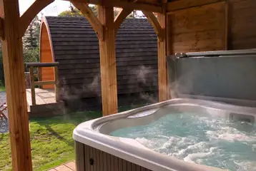
[{"label": "bright white sky above the trees at upper left", "polygon": [[[26,9],[33,4],[34,0],[19,0],[19,11],[21,14],[23,14]],[[44,16],[57,16],[62,11],[65,11],[69,9],[69,1],[54,1],[49,6],[46,6],[46,8],[41,11],[41,13],[44,14]],[[41,17],[41,14],[39,13],[39,17]]]}]

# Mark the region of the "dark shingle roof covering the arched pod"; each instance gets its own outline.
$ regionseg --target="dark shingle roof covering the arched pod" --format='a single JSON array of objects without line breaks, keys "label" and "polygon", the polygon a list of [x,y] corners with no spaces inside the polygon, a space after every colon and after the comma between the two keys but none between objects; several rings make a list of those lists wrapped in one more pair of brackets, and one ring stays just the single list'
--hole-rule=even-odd
[{"label": "dark shingle roof covering the arched pod", "polygon": [[[100,95],[99,42],[85,18],[46,16],[61,86]],[[147,19],[125,19],[117,33],[118,93],[157,91],[157,35]]]}]

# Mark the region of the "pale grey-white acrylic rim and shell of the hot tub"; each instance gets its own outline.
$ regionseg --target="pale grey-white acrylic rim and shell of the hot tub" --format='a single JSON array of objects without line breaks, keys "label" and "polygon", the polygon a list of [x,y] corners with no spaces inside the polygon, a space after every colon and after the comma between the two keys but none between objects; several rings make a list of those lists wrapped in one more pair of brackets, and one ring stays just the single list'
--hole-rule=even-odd
[{"label": "pale grey-white acrylic rim and shell of the hot tub", "polygon": [[[114,130],[133,125],[143,125],[151,123],[154,113],[158,109],[172,108],[181,110],[200,110],[210,115],[229,118],[230,113],[241,113],[256,117],[255,108],[227,105],[215,103],[207,100],[195,99],[173,99],[162,103],[148,105],[143,108],[129,110],[116,115],[90,120],[82,123],[74,129],[73,138],[85,145],[97,148],[111,155],[121,157],[124,160],[133,162],[149,170],[179,170],[179,171],[205,171],[220,170],[215,167],[197,165],[184,162],[174,157],[162,155],[159,152],[149,150],[141,145],[137,140],[129,138],[117,138],[108,135]],[[158,114],[157,114],[158,115]],[[161,116],[157,117],[160,118]]]}]

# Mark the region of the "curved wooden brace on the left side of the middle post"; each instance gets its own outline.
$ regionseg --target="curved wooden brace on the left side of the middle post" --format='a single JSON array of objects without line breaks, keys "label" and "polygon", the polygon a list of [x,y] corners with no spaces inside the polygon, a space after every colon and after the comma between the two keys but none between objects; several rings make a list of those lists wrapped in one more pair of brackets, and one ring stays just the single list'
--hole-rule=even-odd
[{"label": "curved wooden brace on the left side of the middle post", "polygon": [[92,28],[94,28],[94,31],[97,34],[98,38],[100,40],[103,40],[104,39],[103,26],[99,21],[99,19],[97,19],[97,17],[94,15],[94,12],[92,11],[92,9],[90,9],[88,4],[78,3],[73,0],[72,0],[72,4],[76,6],[76,8],[79,9],[82,12],[82,14],[87,18],[89,23],[92,25]]}]

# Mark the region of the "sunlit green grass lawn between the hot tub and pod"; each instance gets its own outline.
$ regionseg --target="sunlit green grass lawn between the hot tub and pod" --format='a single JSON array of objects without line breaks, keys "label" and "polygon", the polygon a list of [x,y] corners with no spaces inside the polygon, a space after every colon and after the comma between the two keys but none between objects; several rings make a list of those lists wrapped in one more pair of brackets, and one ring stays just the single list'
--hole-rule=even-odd
[{"label": "sunlit green grass lawn between the hot tub and pod", "polygon": [[[119,111],[142,105],[119,108]],[[47,170],[74,160],[72,132],[79,124],[99,118],[101,112],[72,113],[54,118],[30,120],[31,152],[34,170]],[[9,134],[0,134],[0,170],[11,170]]]}]

